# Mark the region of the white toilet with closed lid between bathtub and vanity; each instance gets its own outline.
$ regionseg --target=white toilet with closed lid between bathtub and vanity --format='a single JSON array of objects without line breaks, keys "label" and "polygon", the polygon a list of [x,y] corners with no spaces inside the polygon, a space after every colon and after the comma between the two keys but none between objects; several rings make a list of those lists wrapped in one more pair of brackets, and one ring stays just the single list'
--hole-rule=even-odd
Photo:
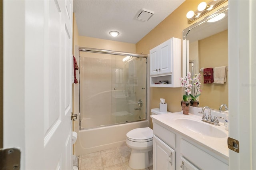
[{"label": "white toilet with closed lid between bathtub and vanity", "polygon": [[[160,112],[159,108],[151,109],[152,115],[170,112]],[[144,169],[152,166],[149,152],[153,150],[153,130],[149,127],[135,128],[126,134],[126,145],[132,149],[129,166],[133,169]]]}]

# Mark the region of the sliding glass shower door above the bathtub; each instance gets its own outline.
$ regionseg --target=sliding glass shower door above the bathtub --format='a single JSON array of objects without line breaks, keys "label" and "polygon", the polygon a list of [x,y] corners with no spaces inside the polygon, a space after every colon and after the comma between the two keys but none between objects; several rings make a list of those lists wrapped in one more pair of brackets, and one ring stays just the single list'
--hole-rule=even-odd
[{"label": "sliding glass shower door above the bathtub", "polygon": [[80,52],[81,128],[146,119],[146,58]]}]

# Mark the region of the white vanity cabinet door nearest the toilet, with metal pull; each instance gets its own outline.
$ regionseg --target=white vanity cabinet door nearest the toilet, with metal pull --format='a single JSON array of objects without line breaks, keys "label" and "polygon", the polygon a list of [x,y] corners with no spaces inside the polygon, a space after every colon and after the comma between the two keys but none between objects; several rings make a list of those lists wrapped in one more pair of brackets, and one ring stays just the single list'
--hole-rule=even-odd
[{"label": "white vanity cabinet door nearest the toilet, with metal pull", "polygon": [[175,170],[175,150],[154,135],[153,170]]}]

